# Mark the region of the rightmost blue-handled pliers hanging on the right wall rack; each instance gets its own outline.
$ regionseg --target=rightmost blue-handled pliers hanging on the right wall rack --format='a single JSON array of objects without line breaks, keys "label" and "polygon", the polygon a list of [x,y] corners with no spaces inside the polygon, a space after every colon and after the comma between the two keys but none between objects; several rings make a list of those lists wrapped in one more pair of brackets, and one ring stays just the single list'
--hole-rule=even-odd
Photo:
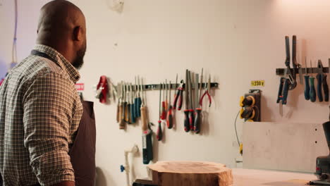
[{"label": "rightmost blue-handled pliers hanging on the right wall rack", "polygon": [[328,82],[326,82],[326,75],[323,73],[322,61],[317,62],[317,97],[319,101],[323,101],[322,87],[324,92],[324,101],[329,101],[329,87]]}]

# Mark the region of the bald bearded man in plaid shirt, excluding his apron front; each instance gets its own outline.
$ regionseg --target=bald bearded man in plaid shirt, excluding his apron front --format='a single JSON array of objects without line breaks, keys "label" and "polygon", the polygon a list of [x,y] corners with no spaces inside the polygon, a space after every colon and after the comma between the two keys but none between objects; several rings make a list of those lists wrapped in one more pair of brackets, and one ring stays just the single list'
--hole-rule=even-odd
[{"label": "bald bearded man in plaid shirt, excluding his apron front", "polygon": [[75,185],[69,151],[83,112],[75,82],[85,50],[82,11],[62,0],[44,5],[35,48],[0,87],[4,185]]}]

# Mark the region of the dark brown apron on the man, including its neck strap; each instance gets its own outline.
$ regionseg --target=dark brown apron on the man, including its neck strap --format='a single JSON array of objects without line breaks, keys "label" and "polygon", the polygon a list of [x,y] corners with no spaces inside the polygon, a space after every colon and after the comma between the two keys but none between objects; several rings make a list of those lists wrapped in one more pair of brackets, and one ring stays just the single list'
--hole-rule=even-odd
[{"label": "dark brown apron on the man, including its neck strap", "polygon": [[[47,54],[32,51],[32,55],[51,59]],[[75,171],[75,185],[91,186],[95,183],[95,142],[96,126],[93,102],[81,101],[84,108],[80,120],[75,142],[69,151],[73,170]],[[37,184],[38,185],[38,184]]]}]

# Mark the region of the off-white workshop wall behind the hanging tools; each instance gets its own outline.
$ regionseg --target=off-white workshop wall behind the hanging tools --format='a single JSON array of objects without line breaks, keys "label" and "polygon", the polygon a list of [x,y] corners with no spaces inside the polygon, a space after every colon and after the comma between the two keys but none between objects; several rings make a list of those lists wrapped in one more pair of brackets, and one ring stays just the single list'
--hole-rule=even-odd
[{"label": "off-white workshop wall behind the hanging tools", "polygon": [[[47,1],[19,1],[18,55],[29,54],[35,42],[38,10]],[[84,96],[94,100],[92,86],[100,75],[117,83],[133,81],[135,75],[146,83],[184,78],[186,68],[211,73],[220,87],[212,92],[214,104],[209,125],[202,135],[183,131],[183,114],[178,129],[166,130],[166,142],[157,144],[157,160],[202,160],[234,166],[238,147],[233,121],[239,97],[250,89],[250,80],[265,80],[262,88],[262,120],[266,122],[322,123],[329,117],[327,103],[304,100],[299,85],[288,96],[279,114],[276,96],[284,68],[284,36],[298,36],[298,60],[330,57],[330,1],[302,0],[126,0],[123,13],[110,11],[104,0],[73,1],[87,18],[87,54],[82,68]],[[0,6],[0,64],[10,62],[13,32],[13,2]],[[305,47],[302,46],[305,42]],[[314,63],[316,65],[316,63]],[[1,74],[0,74],[1,75]],[[158,92],[147,93],[149,118],[157,123]],[[118,130],[116,106],[96,104],[97,166],[102,170],[99,185],[123,185],[120,173],[123,149],[138,144],[140,126]],[[241,125],[241,124],[240,124]],[[241,127],[240,127],[241,128]],[[154,128],[156,130],[156,128]],[[246,134],[245,134],[246,135]],[[146,177],[142,157],[134,159],[135,175]],[[314,161],[314,160],[311,160]]]}]

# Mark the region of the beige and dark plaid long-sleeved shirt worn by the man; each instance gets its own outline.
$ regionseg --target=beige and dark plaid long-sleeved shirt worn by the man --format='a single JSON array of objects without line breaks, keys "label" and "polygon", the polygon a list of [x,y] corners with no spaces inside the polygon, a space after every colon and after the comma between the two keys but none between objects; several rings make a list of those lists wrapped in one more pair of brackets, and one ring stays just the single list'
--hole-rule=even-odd
[{"label": "beige and dark plaid long-sleeved shirt worn by the man", "polygon": [[80,78],[66,58],[49,46],[35,50],[0,86],[0,172],[4,185],[54,185],[74,181],[68,155],[82,104],[75,90]]}]

